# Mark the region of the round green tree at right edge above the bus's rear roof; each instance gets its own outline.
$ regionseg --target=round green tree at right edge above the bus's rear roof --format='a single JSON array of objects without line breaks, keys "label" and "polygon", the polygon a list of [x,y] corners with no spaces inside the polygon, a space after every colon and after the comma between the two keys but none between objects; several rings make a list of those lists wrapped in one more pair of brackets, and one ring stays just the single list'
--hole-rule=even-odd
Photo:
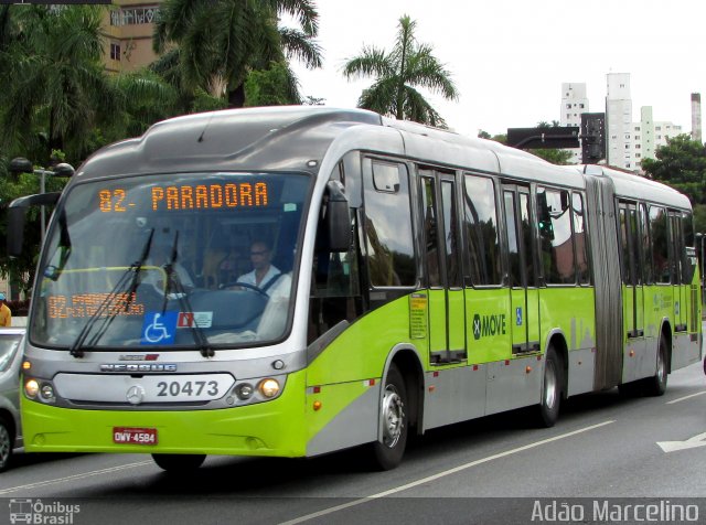
[{"label": "round green tree at right edge above the bus's rear roof", "polygon": [[706,150],[704,144],[680,135],[657,148],[656,159],[643,159],[642,169],[654,179],[685,193],[693,205],[706,204]]}]

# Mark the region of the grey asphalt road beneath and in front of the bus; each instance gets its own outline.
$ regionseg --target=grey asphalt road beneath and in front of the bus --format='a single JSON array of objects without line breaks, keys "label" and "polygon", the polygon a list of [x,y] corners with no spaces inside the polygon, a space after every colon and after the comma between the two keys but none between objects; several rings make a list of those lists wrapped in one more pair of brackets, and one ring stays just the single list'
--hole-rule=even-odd
[{"label": "grey asphalt road beneath and in front of the bus", "polygon": [[513,411],[429,431],[389,472],[370,471],[357,451],[213,457],[183,478],[149,456],[20,452],[0,499],[0,523],[22,501],[77,525],[568,523],[552,514],[561,510],[574,523],[634,523],[649,516],[625,505],[645,504],[656,523],[694,512],[704,523],[706,376],[695,364],[671,374],[662,397],[573,398],[550,429]]}]

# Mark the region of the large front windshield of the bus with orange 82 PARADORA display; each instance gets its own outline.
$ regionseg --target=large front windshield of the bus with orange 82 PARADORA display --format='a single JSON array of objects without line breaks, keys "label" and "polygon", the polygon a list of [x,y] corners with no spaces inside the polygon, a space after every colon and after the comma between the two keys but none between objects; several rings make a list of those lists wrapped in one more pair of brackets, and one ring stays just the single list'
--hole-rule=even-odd
[{"label": "large front windshield of the bus with orange 82 PARADORA display", "polygon": [[281,340],[309,185],[297,173],[77,184],[40,261],[31,341],[83,352]]}]

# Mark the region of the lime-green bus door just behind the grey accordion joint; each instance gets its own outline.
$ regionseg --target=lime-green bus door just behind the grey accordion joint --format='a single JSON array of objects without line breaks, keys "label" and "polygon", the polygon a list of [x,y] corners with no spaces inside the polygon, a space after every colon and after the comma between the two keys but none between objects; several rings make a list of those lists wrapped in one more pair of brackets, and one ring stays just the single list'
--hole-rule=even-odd
[{"label": "lime-green bus door just behind the grey accordion joint", "polygon": [[[627,362],[623,379],[640,377],[645,351],[644,340],[644,282],[641,255],[642,239],[639,231],[638,206],[633,202],[620,202],[621,272],[623,283],[623,326],[629,355],[637,356],[634,363]],[[637,353],[637,354],[635,354]],[[631,375],[632,374],[632,375]]]}]

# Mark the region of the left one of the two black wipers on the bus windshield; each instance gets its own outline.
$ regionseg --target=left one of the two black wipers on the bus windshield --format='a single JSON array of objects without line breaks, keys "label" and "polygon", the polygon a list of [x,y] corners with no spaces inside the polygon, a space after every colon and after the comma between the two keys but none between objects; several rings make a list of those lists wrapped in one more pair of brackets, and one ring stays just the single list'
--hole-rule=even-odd
[{"label": "left one of the two black wipers on the bus windshield", "polygon": [[[106,331],[108,330],[108,328],[110,326],[110,324],[113,323],[113,321],[118,314],[118,310],[111,307],[114,306],[118,297],[118,292],[122,290],[125,288],[125,285],[128,282],[128,279],[130,278],[130,272],[132,272],[130,286],[128,288],[128,297],[125,301],[125,310],[126,311],[128,310],[128,308],[130,307],[130,303],[132,302],[132,296],[135,294],[137,287],[140,282],[139,280],[140,271],[142,271],[142,266],[145,266],[145,261],[150,255],[153,237],[154,237],[154,228],[151,228],[150,235],[147,238],[145,246],[142,247],[142,253],[140,254],[140,258],[135,262],[132,262],[127,270],[125,270],[125,272],[118,279],[118,282],[116,282],[116,285],[113,287],[113,290],[108,292],[108,296],[103,300],[103,302],[96,309],[94,314],[90,315],[90,319],[88,319],[84,328],[78,333],[76,341],[74,341],[74,344],[72,344],[71,350],[68,352],[71,355],[73,355],[74,357],[83,357],[84,349],[95,346],[95,344],[100,340],[100,338],[103,338],[103,334],[106,333]],[[90,339],[90,342],[87,345],[84,345],[86,339],[88,338],[88,333],[93,329],[93,325],[107,311],[109,311],[109,313],[105,315],[100,328],[96,331],[94,336]]]}]

